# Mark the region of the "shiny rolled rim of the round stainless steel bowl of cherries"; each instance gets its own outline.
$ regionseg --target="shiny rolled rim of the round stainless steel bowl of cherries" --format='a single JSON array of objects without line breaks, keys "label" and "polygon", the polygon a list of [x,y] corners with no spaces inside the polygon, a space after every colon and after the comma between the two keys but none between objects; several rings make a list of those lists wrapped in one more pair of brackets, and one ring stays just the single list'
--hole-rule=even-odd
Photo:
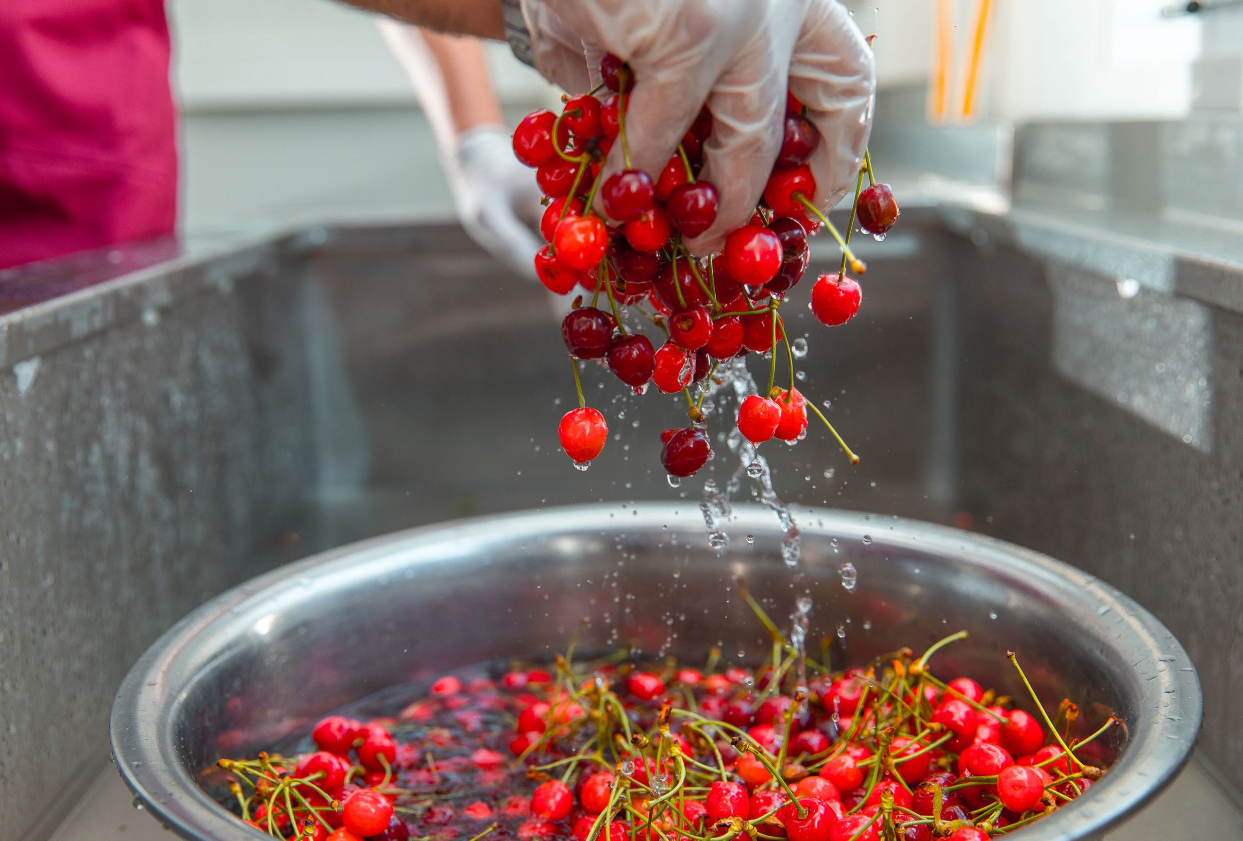
[{"label": "shiny rolled rim of the round stainless steel bowl of cherries", "polygon": [[[624,530],[628,534],[660,529],[675,518],[702,527],[699,508],[679,503],[628,503],[625,520],[617,519],[618,503],[568,505],[536,511],[513,511],[450,520],[348,544],[260,575],[209,600],[165,631],[129,669],[112,705],[109,736],[122,779],[142,805],[165,829],[191,841],[267,839],[225,811],[198,785],[179,761],[173,728],[184,688],[205,664],[213,647],[247,627],[241,616],[271,612],[271,600],[295,587],[305,590],[310,571],[323,578],[364,574],[368,565],[434,562],[461,551],[462,544],[515,542],[523,537],[567,532]],[[1182,770],[1195,746],[1203,700],[1195,666],[1172,633],[1147,610],[1104,581],[1040,552],[920,520],[823,508],[792,506],[804,535],[843,540],[871,536],[878,547],[948,555],[988,567],[1022,574],[1039,590],[1055,596],[1069,613],[1093,621],[1112,612],[1126,634],[1108,642],[1124,662],[1152,663],[1142,682],[1137,724],[1126,750],[1093,786],[1091,796],[1075,800],[1023,830],[1028,841],[1094,837],[1127,817]],[[609,516],[609,515],[614,516]],[[891,526],[891,527],[888,527]],[[730,527],[761,535],[781,534],[772,511],[759,505],[737,505]],[[450,549],[451,547],[451,549]],[[438,551],[440,550],[440,551]],[[1105,610],[1108,608],[1108,610]],[[214,642],[215,641],[215,642]],[[170,676],[181,677],[173,683]]]}]

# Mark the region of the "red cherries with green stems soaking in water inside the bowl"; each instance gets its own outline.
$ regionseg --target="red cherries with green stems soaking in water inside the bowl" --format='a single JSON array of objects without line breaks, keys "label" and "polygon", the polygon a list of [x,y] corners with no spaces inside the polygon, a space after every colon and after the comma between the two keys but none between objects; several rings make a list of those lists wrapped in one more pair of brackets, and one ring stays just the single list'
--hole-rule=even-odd
[{"label": "red cherries with green stems soaking in water inside the bowl", "polygon": [[757,671],[716,652],[702,669],[472,667],[392,718],[331,715],[303,751],[214,774],[291,841],[987,841],[1088,791],[1115,719],[1074,739],[1069,700],[1050,718],[1032,693],[1033,715],[933,677],[963,637],[838,673],[787,639]]}]

